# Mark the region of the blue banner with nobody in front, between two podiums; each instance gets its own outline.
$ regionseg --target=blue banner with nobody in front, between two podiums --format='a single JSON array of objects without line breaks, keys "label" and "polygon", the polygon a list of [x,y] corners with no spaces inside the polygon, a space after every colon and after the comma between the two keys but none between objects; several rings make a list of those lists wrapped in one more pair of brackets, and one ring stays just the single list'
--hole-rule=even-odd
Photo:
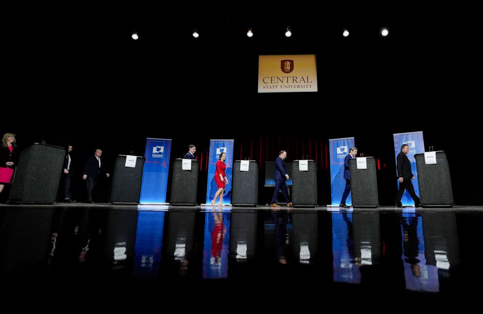
[{"label": "blue banner with nobody in front, between two podiums", "polygon": [[141,204],[166,204],[171,140],[146,139]]}]

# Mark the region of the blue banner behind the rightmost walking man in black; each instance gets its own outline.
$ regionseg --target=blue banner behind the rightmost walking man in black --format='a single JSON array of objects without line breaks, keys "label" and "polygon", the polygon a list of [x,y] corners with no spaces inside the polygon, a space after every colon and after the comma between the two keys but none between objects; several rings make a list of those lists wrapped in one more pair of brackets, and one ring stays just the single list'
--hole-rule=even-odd
[{"label": "blue banner behind the rightmost walking man in black", "polygon": [[[412,185],[414,186],[414,191],[419,196],[419,185],[418,185],[418,172],[416,171],[416,159],[414,159],[414,154],[424,153],[424,140],[423,132],[411,132],[411,133],[398,133],[393,134],[394,136],[394,153],[396,158],[397,166],[397,155],[401,152],[401,145],[409,145],[408,158],[411,162],[411,172],[414,174],[414,180],[412,180]],[[396,168],[396,180],[397,187],[399,189],[399,180],[397,179],[397,168]],[[403,198],[401,199],[403,206],[414,206],[414,201],[409,195],[408,191],[404,191]]]}]

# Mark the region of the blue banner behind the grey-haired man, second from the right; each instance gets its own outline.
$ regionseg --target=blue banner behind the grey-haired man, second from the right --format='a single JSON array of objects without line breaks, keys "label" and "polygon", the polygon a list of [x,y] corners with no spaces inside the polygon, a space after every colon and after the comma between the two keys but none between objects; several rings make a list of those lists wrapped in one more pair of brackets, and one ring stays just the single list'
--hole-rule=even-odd
[{"label": "blue banner behind the grey-haired man, second from the right", "polygon": [[[349,154],[349,149],[354,146],[354,138],[329,140],[329,154],[331,158],[331,192],[332,206],[338,206],[342,193],[346,187],[344,179],[344,159]],[[346,200],[346,205],[352,205],[352,196]]]}]

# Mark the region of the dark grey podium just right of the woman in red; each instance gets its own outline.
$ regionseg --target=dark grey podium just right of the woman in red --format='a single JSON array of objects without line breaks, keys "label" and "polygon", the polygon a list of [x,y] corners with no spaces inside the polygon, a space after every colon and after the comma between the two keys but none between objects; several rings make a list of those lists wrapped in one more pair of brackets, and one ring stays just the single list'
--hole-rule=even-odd
[{"label": "dark grey podium just right of the woman in red", "polygon": [[233,163],[233,205],[258,204],[258,164],[255,160],[249,160],[248,171],[240,171],[241,160]]}]

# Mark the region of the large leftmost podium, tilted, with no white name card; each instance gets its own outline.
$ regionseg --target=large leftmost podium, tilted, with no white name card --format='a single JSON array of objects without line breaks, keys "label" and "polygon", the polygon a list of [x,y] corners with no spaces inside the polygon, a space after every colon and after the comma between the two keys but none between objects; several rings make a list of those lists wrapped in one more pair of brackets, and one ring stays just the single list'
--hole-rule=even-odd
[{"label": "large leftmost podium, tilted, with no white name card", "polygon": [[56,202],[66,150],[34,143],[20,153],[9,202]]}]

